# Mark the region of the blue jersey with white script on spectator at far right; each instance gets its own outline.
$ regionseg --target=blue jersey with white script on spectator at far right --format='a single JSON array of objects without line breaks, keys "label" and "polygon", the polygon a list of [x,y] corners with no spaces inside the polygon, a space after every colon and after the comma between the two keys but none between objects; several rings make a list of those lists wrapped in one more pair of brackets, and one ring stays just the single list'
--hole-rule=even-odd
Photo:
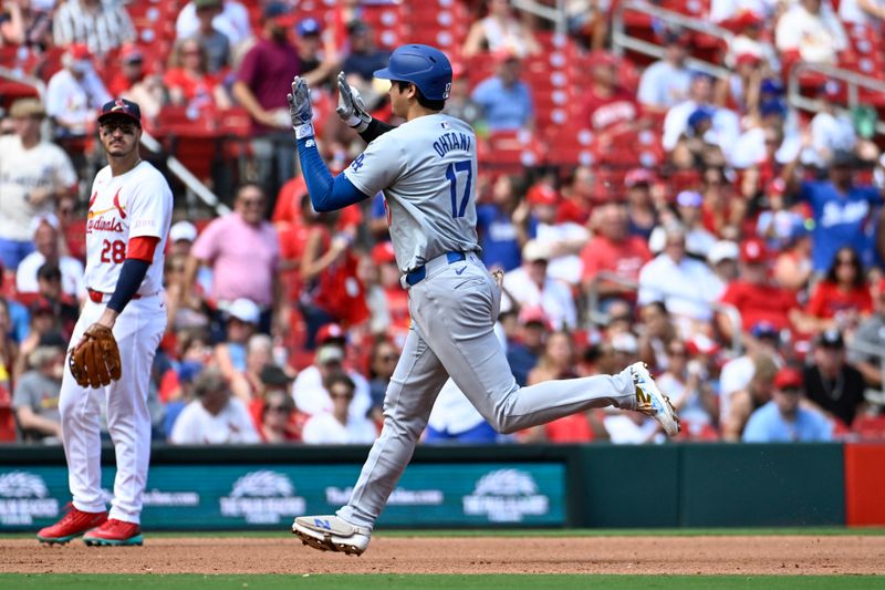
[{"label": "blue jersey with white script on spectator at far right", "polygon": [[843,246],[854,248],[865,263],[873,259],[873,214],[882,204],[879,190],[853,186],[840,194],[830,180],[802,183],[800,198],[811,205],[814,216],[812,265],[825,272]]}]

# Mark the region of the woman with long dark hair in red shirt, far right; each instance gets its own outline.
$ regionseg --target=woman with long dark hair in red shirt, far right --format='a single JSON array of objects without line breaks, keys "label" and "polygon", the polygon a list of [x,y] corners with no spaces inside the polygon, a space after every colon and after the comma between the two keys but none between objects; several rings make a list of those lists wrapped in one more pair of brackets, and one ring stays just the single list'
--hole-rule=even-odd
[{"label": "woman with long dark hair in red shirt, far right", "polygon": [[861,258],[848,246],[840,248],[826,277],[812,291],[805,319],[814,332],[844,331],[855,328],[872,311],[873,298]]}]

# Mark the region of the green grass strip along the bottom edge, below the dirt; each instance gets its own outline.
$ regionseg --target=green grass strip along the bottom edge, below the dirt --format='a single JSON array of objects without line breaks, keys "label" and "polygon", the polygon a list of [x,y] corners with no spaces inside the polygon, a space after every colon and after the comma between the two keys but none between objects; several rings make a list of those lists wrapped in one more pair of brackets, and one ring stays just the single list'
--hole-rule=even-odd
[{"label": "green grass strip along the bottom edge, below the dirt", "polygon": [[489,590],[538,590],[539,588],[570,589],[710,589],[742,588],[826,590],[885,588],[885,578],[875,576],[132,576],[132,575],[0,575],[2,588],[21,590],[289,590],[321,588],[322,590],[361,590],[389,588]]}]

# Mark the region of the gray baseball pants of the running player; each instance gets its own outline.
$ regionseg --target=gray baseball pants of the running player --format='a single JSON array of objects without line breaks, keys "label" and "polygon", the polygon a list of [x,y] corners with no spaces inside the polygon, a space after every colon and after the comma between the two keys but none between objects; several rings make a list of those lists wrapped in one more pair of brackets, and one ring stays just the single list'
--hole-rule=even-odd
[{"label": "gray baseball pants of the running player", "polygon": [[384,398],[384,427],[372,445],[347,506],[337,516],[372,529],[412,459],[436,396],[452,381],[489,424],[512,433],[591,407],[634,408],[628,371],[617,375],[517,385],[493,333],[501,292],[473,253],[426,265],[409,289],[412,330]]}]

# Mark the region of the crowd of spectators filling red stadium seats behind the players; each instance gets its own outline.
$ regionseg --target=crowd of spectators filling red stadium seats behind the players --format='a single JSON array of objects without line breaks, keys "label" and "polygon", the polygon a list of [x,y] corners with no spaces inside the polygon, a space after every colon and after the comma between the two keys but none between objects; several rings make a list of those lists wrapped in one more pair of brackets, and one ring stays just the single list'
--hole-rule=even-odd
[{"label": "crowd of spectators filling red stadium seats behind the players", "polygon": [[[42,100],[0,89],[0,438],[58,442],[65,348],[86,297],[95,108],[123,96],[160,137],[231,113],[247,122],[223,144],[225,174],[204,175],[232,211],[195,218],[177,200],[155,439],[372,442],[408,294],[382,195],[340,214],[311,208],[285,94],[295,74],[309,81],[321,148],[342,169],[362,144],[335,116],[335,76],[388,120],[372,72],[392,45],[433,43],[416,19],[440,14],[455,66],[446,112],[481,142],[481,256],[506,272],[498,328],[520,384],[642,359],[684,439],[885,436],[867,401],[883,390],[885,351],[876,105],[846,113],[845,85],[820,76],[803,80],[814,112],[784,91],[799,60],[879,63],[882,0],[695,2],[693,15],[733,38],[711,53],[702,34],[653,21],[652,63],[606,49],[606,1],[566,2],[564,39],[507,0],[414,4],[2,1],[2,65],[48,85]],[[387,18],[407,10],[410,30]],[[693,54],[730,75],[690,70]],[[650,418],[605,411],[503,437],[449,385],[425,435],[662,439]]]}]

